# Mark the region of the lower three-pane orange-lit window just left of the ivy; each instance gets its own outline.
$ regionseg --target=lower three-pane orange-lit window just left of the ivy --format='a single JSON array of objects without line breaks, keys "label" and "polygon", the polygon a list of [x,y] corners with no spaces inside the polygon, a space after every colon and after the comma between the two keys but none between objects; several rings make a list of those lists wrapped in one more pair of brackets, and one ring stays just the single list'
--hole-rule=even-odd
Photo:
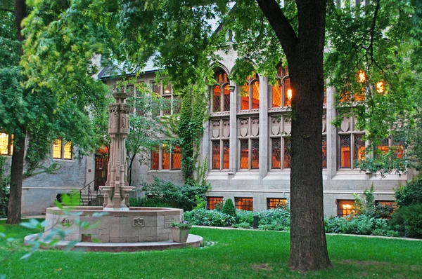
[{"label": "lower three-pane orange-lit window just left of the ivy", "polygon": [[151,170],[180,170],[181,149],[178,146],[153,147],[151,150]]}]

